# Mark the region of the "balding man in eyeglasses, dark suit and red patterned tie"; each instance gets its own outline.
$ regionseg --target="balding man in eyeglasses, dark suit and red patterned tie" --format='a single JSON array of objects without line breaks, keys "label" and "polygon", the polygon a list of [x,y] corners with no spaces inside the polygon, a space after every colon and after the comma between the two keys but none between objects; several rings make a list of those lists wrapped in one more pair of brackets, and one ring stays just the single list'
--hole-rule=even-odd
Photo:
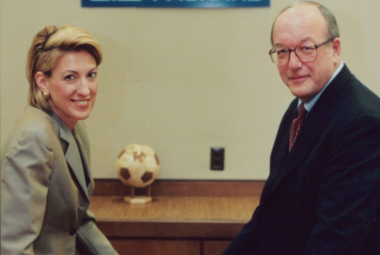
[{"label": "balding man in eyeglasses, dark suit and red patterned tie", "polygon": [[296,99],[260,205],[224,254],[380,254],[379,97],[341,62],[335,18],[316,2],[286,7],[272,45]]}]

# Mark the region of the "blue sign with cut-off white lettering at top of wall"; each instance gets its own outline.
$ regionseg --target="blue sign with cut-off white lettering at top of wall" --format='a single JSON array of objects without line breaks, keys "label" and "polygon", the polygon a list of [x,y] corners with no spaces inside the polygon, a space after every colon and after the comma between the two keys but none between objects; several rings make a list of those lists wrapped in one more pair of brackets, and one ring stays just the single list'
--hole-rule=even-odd
[{"label": "blue sign with cut-off white lettering at top of wall", "polygon": [[82,7],[236,8],[265,7],[270,0],[82,0]]}]

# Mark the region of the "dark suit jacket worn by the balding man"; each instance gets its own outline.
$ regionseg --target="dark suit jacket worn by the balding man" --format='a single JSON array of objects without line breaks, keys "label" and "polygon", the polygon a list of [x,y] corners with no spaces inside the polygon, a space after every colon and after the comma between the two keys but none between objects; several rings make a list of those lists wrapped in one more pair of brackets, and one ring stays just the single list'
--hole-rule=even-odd
[{"label": "dark suit jacket worn by the balding man", "polygon": [[225,255],[380,254],[380,99],[346,66],[288,153],[291,102],[252,219]]}]

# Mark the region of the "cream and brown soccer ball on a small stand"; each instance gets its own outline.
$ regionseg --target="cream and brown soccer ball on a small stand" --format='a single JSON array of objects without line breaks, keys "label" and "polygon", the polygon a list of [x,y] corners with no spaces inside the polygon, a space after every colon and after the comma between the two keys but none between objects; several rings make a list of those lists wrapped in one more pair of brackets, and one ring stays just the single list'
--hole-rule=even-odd
[{"label": "cream and brown soccer ball on a small stand", "polygon": [[117,157],[116,170],[125,185],[143,188],[157,178],[160,163],[157,154],[149,146],[131,144]]}]

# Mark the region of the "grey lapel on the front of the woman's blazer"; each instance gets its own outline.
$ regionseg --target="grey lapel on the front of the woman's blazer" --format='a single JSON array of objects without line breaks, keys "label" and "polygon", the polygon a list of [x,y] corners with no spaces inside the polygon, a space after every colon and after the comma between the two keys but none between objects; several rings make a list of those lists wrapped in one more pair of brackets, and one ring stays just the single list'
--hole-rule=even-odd
[{"label": "grey lapel on the front of the woman's blazer", "polygon": [[[59,134],[59,137],[61,141],[64,141],[64,143],[67,145],[66,152],[65,150],[65,159],[66,162],[74,174],[76,178],[76,183],[79,186],[78,189],[82,190],[84,194],[86,195],[87,199],[90,200],[89,191],[86,184],[86,178],[85,178],[85,170],[88,169],[88,160],[84,159],[85,168],[83,167],[81,155],[80,155],[80,145],[77,145],[77,142],[75,141],[75,138],[73,134],[71,133],[70,129],[63,123],[63,121],[55,114],[52,114],[51,116],[55,122],[57,123],[57,133]],[[74,129],[75,130],[75,129]],[[80,142],[78,142],[80,144]],[[62,147],[63,148],[63,147]],[[84,156],[86,158],[86,156]]]}]

